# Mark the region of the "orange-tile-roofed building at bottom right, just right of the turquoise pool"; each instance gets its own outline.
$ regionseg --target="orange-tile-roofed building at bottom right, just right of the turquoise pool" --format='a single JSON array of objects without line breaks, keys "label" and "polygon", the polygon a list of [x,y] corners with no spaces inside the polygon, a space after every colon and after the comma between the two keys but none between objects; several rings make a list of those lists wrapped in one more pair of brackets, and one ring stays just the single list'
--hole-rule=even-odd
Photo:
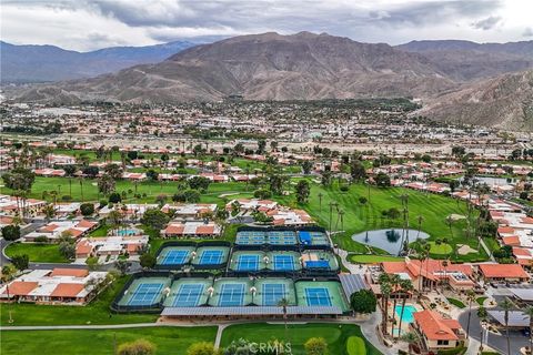
[{"label": "orange-tile-roofed building at bottom right, just right of the turquoise pool", "polygon": [[438,312],[430,310],[413,313],[413,317],[412,327],[420,334],[428,352],[438,353],[454,348],[465,338],[457,320],[444,318]]}]

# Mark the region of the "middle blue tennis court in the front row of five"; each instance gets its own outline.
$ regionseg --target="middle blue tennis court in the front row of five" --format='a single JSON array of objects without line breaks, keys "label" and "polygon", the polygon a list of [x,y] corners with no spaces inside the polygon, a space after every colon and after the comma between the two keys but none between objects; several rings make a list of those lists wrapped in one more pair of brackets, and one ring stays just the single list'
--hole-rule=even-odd
[{"label": "middle blue tennis court in the front row of five", "polygon": [[250,278],[227,277],[214,282],[213,296],[209,298],[211,306],[234,307],[245,306],[252,303],[252,287]]}]

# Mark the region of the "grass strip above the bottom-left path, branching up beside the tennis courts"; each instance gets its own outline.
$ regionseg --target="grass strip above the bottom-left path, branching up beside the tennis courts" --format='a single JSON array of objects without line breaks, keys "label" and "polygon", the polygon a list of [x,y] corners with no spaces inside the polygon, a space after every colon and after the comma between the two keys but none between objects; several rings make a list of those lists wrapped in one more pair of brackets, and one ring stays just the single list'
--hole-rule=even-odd
[{"label": "grass strip above the bottom-left path, branching up beside the tennis courts", "polygon": [[[121,277],[105,288],[97,300],[86,306],[54,306],[36,304],[2,304],[1,325],[7,326],[11,313],[12,325],[76,325],[76,324],[125,324],[155,322],[154,314],[112,314],[109,306],[122,290],[127,277]],[[3,335],[3,333],[2,333]]]}]

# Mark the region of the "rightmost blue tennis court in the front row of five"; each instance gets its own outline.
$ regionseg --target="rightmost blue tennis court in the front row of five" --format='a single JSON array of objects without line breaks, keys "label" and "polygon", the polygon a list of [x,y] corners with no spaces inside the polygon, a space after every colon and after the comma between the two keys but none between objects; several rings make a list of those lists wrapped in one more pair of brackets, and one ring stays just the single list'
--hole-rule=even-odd
[{"label": "rightmost blue tennis court in the front row of five", "polygon": [[338,281],[296,281],[294,287],[299,306],[338,306],[343,311],[350,308]]}]

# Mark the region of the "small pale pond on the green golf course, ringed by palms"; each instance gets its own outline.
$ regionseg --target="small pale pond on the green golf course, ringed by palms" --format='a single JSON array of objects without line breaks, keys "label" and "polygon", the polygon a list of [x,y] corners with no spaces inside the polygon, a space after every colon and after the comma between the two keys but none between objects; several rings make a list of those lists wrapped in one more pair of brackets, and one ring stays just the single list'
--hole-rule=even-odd
[{"label": "small pale pond on the green golf course, ringed by palms", "polygon": [[[409,242],[414,242],[416,237],[425,240],[430,237],[428,233],[419,232],[418,230],[409,230]],[[405,237],[404,237],[405,239]],[[401,229],[388,229],[366,231],[363,233],[352,235],[352,240],[355,242],[375,246],[392,255],[399,255],[402,248],[402,230]]]}]

